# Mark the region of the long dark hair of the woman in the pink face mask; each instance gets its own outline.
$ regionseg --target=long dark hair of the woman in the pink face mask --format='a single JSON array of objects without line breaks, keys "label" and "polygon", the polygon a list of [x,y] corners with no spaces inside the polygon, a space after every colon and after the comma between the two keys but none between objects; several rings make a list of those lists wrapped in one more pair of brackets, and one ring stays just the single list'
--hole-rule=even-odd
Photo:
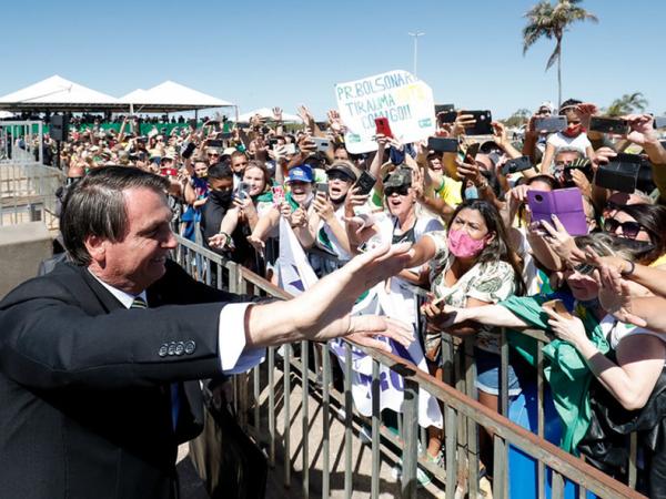
[{"label": "long dark hair of the woman in the pink face mask", "polygon": [[495,233],[495,237],[493,237],[486,247],[478,254],[477,262],[488,263],[503,261],[508,263],[516,274],[518,287],[516,294],[522,295],[525,293],[526,286],[525,281],[523,281],[523,269],[519,264],[518,255],[512,249],[511,244],[508,244],[508,235],[506,228],[504,228],[504,223],[502,222],[502,216],[500,216],[497,208],[492,203],[484,200],[466,200],[458,204],[453,212],[453,215],[451,216],[452,223],[463,210],[475,210],[481,213],[486,227],[488,227],[488,233]]}]

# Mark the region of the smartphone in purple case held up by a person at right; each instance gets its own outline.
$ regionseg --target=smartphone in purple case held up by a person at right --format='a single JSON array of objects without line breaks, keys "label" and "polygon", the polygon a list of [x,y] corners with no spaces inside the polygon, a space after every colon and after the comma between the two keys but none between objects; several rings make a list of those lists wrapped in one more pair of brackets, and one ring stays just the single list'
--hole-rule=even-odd
[{"label": "smartphone in purple case held up by a person at right", "polygon": [[586,235],[587,218],[583,208],[583,194],[577,187],[555,191],[527,191],[527,205],[532,221],[546,221],[553,225],[552,215],[557,215],[569,235]]}]

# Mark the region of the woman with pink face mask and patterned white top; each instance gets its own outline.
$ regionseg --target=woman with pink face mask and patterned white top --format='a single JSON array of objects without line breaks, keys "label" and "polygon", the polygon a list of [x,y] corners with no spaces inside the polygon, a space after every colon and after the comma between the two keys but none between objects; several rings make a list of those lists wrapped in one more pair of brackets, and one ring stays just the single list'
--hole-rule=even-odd
[{"label": "woman with pink face mask and patterned white top", "polygon": [[[467,200],[460,204],[448,231],[431,232],[413,246],[414,257],[407,265],[431,262],[431,291],[435,301],[461,308],[480,307],[522,294],[518,258],[508,245],[500,213],[491,203]],[[460,325],[446,329],[455,336],[475,335],[476,388],[478,401],[497,410],[500,394],[500,330],[494,327]],[[431,327],[425,340],[426,357],[433,376],[442,379],[440,367],[441,330]],[[508,393],[521,393],[511,368]],[[430,454],[441,446],[431,431]]]}]

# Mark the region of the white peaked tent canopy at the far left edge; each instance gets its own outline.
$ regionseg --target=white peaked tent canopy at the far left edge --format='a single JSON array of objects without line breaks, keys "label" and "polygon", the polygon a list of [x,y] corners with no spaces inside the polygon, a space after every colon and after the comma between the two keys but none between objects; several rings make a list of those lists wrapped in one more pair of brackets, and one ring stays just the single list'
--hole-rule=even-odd
[{"label": "white peaked tent canopy at the far left edge", "polygon": [[115,110],[122,103],[114,96],[53,75],[0,98],[0,109],[11,111]]}]

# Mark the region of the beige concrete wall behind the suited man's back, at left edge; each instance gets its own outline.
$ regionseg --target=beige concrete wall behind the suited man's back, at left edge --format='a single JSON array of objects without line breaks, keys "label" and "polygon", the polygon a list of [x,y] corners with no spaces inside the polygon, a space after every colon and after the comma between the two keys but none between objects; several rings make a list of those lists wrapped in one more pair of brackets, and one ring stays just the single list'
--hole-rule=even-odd
[{"label": "beige concrete wall behind the suited man's back, at left edge", "polygon": [[52,251],[43,222],[0,226],[0,298],[34,277],[40,262],[50,258]]}]

